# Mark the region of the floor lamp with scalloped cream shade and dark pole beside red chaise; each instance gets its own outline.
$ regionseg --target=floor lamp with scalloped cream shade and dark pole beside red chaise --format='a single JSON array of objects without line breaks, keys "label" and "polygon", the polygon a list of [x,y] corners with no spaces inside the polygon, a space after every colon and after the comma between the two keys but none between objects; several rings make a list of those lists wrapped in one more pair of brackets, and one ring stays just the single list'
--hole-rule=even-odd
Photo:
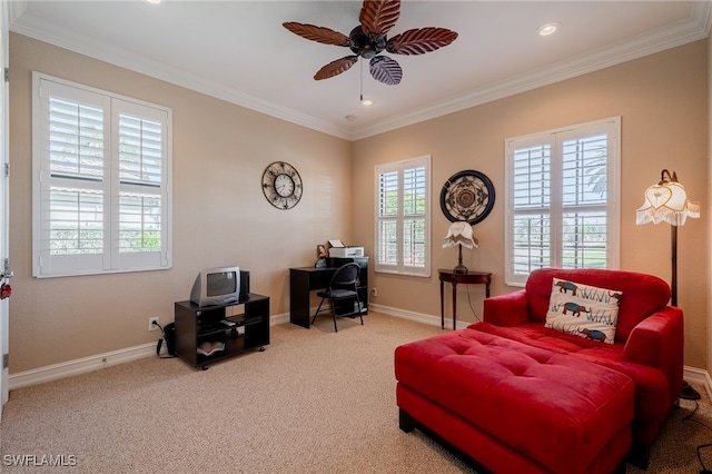
[{"label": "floor lamp with scalloped cream shade and dark pole beside red chaise", "polygon": [[[671,303],[678,306],[678,227],[684,226],[688,217],[700,217],[700,204],[688,200],[685,188],[678,181],[675,171],[663,169],[660,181],[645,190],[645,203],[635,211],[635,224],[668,223],[672,241]],[[683,381],[681,398],[699,399],[700,394]]]}]

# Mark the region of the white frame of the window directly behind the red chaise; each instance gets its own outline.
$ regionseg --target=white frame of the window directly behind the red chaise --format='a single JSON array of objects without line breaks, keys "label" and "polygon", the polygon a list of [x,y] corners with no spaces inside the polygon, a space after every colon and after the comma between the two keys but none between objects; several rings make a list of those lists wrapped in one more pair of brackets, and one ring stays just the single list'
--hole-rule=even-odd
[{"label": "white frame of the window directly behind the red chaise", "polygon": [[[584,210],[591,211],[592,208],[605,209],[605,268],[617,269],[620,266],[620,206],[621,206],[621,117],[611,117],[602,120],[590,121],[575,126],[542,131],[537,134],[507,138],[504,140],[505,148],[505,255],[504,255],[504,276],[505,284],[510,286],[524,286],[528,277],[528,273],[515,270],[515,248],[514,219],[517,210],[514,204],[514,152],[517,149],[525,149],[534,146],[551,146],[548,177],[550,186],[550,205],[542,206],[541,213],[551,211],[550,225],[542,226],[548,229],[548,264],[532,265],[530,258],[531,270],[537,267],[562,267],[564,260],[563,245],[563,221],[564,214],[567,208],[577,209],[571,205],[564,204],[562,192],[564,189],[563,162],[564,151],[563,144],[566,140],[583,139],[594,135],[606,136],[606,190],[605,205],[587,206]],[[531,211],[536,211],[536,206],[532,206]],[[520,215],[526,214],[526,210],[520,210]]]}]

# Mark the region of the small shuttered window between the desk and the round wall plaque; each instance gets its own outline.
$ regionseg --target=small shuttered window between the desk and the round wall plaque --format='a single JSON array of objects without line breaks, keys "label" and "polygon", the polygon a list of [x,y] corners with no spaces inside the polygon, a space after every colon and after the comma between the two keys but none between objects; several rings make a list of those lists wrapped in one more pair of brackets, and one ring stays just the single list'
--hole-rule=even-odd
[{"label": "small shuttered window between the desk and the round wall plaque", "polygon": [[431,157],[376,167],[376,271],[431,275]]}]

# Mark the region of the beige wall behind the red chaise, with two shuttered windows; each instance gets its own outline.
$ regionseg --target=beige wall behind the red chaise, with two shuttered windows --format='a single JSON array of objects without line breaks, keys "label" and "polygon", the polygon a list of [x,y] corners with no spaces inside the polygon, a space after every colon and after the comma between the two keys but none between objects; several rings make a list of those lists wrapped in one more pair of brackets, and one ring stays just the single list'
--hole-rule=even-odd
[{"label": "beige wall behind the red chaise, with two shuttered windows", "polygon": [[[670,280],[670,227],[635,225],[643,191],[662,168],[676,171],[692,200],[708,196],[708,42],[698,41],[446,117],[402,128],[354,145],[355,241],[373,250],[374,166],[422,155],[433,156],[433,275],[429,278],[376,274],[374,303],[426,315],[439,315],[437,268],[456,265],[454,249],[439,240],[448,221],[439,210],[439,190],[451,175],[476,169],[495,185],[494,210],[474,226],[479,248],[464,250],[471,269],[493,273],[493,294],[512,292],[503,283],[504,140],[603,119],[622,118],[621,267]],[[710,280],[709,209],[679,233],[679,306],[685,312],[685,364],[705,367]],[[458,319],[474,320],[461,287]],[[449,290],[449,288],[448,288]],[[471,288],[481,314],[483,290]],[[447,300],[449,304],[449,300]],[[446,306],[449,312],[449,307]],[[449,314],[449,313],[448,313]]]}]

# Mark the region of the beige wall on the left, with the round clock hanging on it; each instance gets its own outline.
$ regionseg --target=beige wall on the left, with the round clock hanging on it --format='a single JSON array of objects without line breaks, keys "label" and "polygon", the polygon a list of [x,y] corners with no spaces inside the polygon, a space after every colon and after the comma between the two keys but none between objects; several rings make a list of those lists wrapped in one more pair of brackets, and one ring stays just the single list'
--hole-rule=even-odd
[{"label": "beige wall on the left, with the round clock hanging on it", "polygon": [[[288,271],[315,247],[350,241],[350,144],[67,50],[10,36],[11,373],[156,342],[148,318],[174,319],[200,267],[239,265],[271,314],[288,313]],[[174,267],[86,277],[31,277],[31,72],[155,102],[174,112]],[[290,210],[261,191],[285,160],[305,191]]]}]

